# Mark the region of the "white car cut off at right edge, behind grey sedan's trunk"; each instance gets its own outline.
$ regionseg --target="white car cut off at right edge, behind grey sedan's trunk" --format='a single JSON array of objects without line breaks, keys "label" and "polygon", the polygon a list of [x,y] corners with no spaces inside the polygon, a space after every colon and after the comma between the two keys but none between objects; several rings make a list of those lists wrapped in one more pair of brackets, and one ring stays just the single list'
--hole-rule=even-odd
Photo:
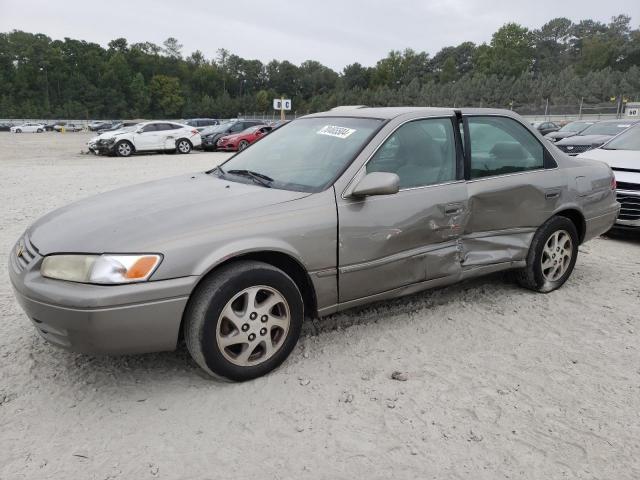
[{"label": "white car cut off at right edge, behind grey sedan's trunk", "polygon": [[640,229],[640,124],[577,158],[600,160],[611,167],[621,207],[615,227]]}]

